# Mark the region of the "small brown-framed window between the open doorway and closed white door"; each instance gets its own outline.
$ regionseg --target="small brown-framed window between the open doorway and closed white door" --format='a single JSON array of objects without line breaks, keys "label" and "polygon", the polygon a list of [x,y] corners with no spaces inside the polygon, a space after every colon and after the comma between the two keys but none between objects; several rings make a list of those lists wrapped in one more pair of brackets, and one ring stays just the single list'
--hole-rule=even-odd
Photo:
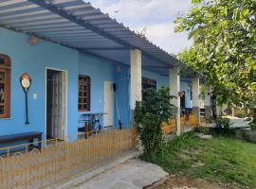
[{"label": "small brown-framed window between the open doorway and closed white door", "polygon": [[79,105],[81,112],[89,112],[91,109],[91,78],[79,76]]}]

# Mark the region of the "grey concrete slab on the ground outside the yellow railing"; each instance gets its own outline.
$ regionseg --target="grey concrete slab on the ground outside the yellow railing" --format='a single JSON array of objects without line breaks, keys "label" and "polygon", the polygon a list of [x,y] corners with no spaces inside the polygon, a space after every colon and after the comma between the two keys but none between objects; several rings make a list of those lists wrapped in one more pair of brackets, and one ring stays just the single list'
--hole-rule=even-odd
[{"label": "grey concrete slab on the ground outside the yellow railing", "polygon": [[98,176],[81,183],[71,185],[70,189],[141,189],[155,183],[168,173],[153,163],[138,159],[127,160]]}]

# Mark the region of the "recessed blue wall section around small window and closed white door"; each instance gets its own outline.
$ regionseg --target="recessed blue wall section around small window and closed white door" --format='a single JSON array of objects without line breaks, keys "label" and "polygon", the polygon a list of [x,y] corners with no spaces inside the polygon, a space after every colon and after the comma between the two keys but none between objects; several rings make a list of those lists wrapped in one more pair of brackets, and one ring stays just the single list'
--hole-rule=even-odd
[{"label": "recessed blue wall section around small window and closed white door", "polygon": [[[91,111],[104,112],[104,81],[117,84],[117,101],[120,121],[124,127],[129,126],[129,67],[113,62],[98,60],[80,55],[79,74],[91,77]],[[115,102],[115,126],[119,125],[117,103]],[[80,112],[82,114],[84,112]]]}]

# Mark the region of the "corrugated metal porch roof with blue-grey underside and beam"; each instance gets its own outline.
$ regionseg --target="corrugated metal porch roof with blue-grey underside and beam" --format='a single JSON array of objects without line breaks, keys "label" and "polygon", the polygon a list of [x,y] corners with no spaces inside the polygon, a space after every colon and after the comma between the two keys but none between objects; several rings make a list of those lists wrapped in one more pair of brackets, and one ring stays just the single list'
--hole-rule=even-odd
[{"label": "corrugated metal porch roof with blue-grey underside and beam", "polygon": [[143,66],[159,74],[183,65],[170,54],[82,0],[1,0],[0,25],[101,58],[129,63],[142,51]]}]

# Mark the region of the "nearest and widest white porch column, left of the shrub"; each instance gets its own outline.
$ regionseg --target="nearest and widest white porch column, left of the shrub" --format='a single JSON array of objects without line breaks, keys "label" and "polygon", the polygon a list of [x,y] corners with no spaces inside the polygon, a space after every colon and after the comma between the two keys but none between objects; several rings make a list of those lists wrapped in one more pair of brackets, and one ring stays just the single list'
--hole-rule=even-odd
[{"label": "nearest and widest white porch column, left of the shrub", "polygon": [[141,87],[141,51],[134,49],[130,52],[130,69],[131,69],[131,96],[130,106],[132,113],[132,125],[134,125],[134,111],[136,102],[142,100],[142,87]]}]

